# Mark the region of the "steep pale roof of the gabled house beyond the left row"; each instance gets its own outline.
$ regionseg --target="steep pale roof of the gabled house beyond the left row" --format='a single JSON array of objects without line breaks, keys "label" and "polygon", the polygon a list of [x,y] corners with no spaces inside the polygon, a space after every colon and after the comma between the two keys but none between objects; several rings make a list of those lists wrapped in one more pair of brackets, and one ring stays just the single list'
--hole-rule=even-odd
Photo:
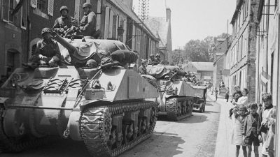
[{"label": "steep pale roof of the gabled house beyond the left row", "polygon": [[155,36],[160,38],[159,47],[166,47],[169,21],[165,17],[148,17],[144,23],[148,25]]}]

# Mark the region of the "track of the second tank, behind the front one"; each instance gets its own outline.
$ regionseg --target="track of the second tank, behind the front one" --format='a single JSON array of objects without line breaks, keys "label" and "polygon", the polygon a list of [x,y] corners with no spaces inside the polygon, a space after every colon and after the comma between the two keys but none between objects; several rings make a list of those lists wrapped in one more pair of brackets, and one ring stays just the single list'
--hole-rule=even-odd
[{"label": "track of the second tank, behind the front one", "polygon": [[171,121],[179,121],[190,117],[193,112],[193,103],[190,105],[190,108],[182,109],[179,103],[183,103],[186,100],[191,100],[188,97],[172,97],[168,98],[165,103],[167,118]]}]

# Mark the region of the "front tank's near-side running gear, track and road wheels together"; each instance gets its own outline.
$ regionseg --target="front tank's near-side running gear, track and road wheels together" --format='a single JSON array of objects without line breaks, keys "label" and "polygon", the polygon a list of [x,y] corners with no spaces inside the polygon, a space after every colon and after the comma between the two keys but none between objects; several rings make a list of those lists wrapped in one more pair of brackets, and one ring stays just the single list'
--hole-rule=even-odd
[{"label": "front tank's near-side running gear, track and road wheels together", "polygon": [[80,135],[92,156],[115,157],[151,136],[155,116],[156,103],[150,101],[89,105],[80,116]]}]

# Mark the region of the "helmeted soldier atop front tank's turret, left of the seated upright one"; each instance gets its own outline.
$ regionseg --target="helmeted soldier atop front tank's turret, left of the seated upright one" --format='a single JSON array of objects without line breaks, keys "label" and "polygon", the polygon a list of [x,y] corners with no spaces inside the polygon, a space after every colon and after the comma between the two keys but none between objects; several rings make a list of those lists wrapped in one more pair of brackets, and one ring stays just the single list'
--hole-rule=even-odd
[{"label": "helmeted soldier atop front tank's turret, left of the seated upright one", "polygon": [[76,20],[68,15],[69,10],[66,6],[60,8],[61,16],[55,20],[53,25],[53,30],[55,30],[60,35],[64,34],[67,29],[70,29],[76,22]]}]

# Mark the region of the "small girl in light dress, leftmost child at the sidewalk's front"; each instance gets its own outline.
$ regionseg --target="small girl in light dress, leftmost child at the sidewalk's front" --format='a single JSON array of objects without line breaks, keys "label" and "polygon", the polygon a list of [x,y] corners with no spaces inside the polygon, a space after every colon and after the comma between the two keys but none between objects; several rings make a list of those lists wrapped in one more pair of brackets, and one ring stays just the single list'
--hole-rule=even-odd
[{"label": "small girl in light dress, leftmost child at the sidewalk's front", "polygon": [[235,126],[234,126],[234,130],[233,130],[232,144],[236,145],[235,155],[237,157],[239,156],[240,146],[242,146],[244,157],[247,157],[246,144],[245,144],[244,140],[242,139],[244,121],[246,118],[246,116],[245,116],[246,107],[244,105],[240,105],[238,108],[239,108],[239,114],[237,114],[237,108],[233,109],[233,114],[235,114]]}]

